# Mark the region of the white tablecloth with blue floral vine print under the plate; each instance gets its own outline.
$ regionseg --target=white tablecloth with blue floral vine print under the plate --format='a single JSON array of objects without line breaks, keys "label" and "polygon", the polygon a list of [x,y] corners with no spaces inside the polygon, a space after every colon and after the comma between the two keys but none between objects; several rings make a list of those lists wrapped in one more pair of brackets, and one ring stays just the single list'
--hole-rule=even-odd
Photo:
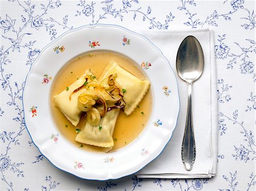
[{"label": "white tablecloth with blue floral vine print under the plate", "polygon": [[[256,190],[255,2],[0,1],[0,190]],[[24,80],[40,50],[85,24],[135,29],[211,27],[219,106],[217,174],[212,179],[88,181],[40,154],[24,125]],[[161,48],[161,47],[159,47]]]}]

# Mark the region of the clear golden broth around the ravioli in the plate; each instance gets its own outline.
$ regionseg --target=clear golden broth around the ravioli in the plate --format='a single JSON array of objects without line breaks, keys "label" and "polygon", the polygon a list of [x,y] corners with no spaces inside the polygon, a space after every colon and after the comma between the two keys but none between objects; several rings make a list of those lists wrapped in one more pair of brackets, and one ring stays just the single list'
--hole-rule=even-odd
[{"label": "clear golden broth around the ravioli in the plate", "polygon": [[[71,60],[63,67],[63,69],[60,70],[53,80],[51,89],[51,111],[53,121],[60,133],[67,138],[68,141],[87,151],[104,152],[105,148],[76,142],[76,129],[83,129],[86,123],[84,113],[81,115],[79,124],[76,127],[73,126],[64,114],[55,107],[53,97],[60,94],[60,92],[65,90],[66,87],[75,82],[78,77],[81,77],[85,70],[91,69],[96,79],[98,79],[110,60],[117,61],[120,66],[134,74],[139,79],[146,79],[146,76],[143,74],[141,69],[139,69],[138,66],[129,58],[112,52],[92,52],[90,54],[83,54]],[[114,146],[111,151],[125,147],[138,138],[150,118],[151,110],[152,94],[149,90],[132,114],[126,116],[126,114],[120,111],[114,129]]]}]

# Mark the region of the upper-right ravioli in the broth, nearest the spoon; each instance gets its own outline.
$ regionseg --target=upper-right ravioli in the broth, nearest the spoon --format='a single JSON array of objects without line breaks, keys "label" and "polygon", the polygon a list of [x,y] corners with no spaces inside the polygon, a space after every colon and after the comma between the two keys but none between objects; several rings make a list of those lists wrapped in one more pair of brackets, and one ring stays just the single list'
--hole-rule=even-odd
[{"label": "upper-right ravioli in the broth, nearest the spoon", "polygon": [[127,115],[131,114],[138,104],[143,99],[144,95],[150,88],[149,80],[141,80],[135,75],[129,73],[129,71],[123,69],[114,60],[110,61],[105,67],[101,77],[98,81],[105,87],[108,87],[108,77],[111,74],[117,73],[117,79],[115,79],[120,86],[125,90],[123,94],[123,100],[125,100],[125,108],[123,112]]}]

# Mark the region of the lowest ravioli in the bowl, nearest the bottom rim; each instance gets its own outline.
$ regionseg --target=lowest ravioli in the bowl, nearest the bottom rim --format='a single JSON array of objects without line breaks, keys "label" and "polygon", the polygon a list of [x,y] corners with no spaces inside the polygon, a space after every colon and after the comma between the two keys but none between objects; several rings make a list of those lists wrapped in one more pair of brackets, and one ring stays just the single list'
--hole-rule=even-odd
[{"label": "lowest ravioli in the bowl, nearest the bottom rim", "polygon": [[87,145],[94,145],[98,147],[109,147],[109,150],[114,146],[113,133],[115,122],[120,109],[112,109],[106,112],[105,116],[101,118],[100,125],[92,126],[86,122],[84,129],[76,135],[75,140]]}]

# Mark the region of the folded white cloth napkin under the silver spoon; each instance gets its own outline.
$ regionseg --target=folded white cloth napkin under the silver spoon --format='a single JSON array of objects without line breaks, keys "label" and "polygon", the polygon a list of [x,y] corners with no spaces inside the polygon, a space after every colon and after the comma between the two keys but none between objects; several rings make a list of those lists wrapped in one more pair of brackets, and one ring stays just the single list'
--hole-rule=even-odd
[{"label": "folded white cloth napkin under the silver spoon", "polygon": [[[218,102],[214,34],[210,29],[137,31],[146,36],[167,57],[177,78],[180,95],[180,113],[171,141],[162,154],[137,172],[137,177],[162,179],[188,179],[212,177],[216,174]],[[195,36],[204,52],[204,71],[192,87],[193,130],[196,159],[191,171],[186,171],[181,160],[181,144],[187,115],[187,83],[176,72],[179,45],[189,35]]]}]

